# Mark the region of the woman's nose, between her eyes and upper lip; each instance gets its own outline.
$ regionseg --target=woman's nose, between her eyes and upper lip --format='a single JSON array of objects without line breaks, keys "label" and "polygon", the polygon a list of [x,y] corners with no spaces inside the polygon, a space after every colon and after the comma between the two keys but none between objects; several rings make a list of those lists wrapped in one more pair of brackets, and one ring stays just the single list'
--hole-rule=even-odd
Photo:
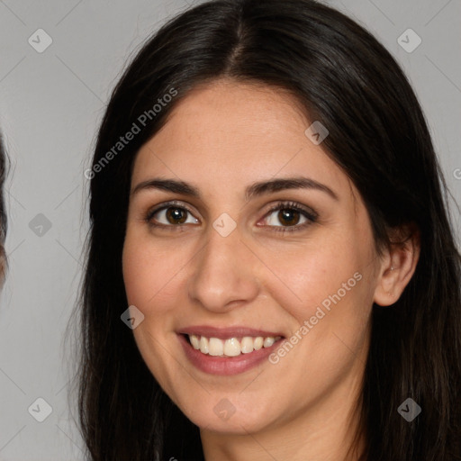
[{"label": "woman's nose, between her eyes and upper lip", "polygon": [[211,312],[228,312],[250,303],[260,288],[256,273],[258,258],[241,240],[239,228],[227,237],[207,230],[206,244],[194,258],[193,275],[188,280],[188,294]]}]

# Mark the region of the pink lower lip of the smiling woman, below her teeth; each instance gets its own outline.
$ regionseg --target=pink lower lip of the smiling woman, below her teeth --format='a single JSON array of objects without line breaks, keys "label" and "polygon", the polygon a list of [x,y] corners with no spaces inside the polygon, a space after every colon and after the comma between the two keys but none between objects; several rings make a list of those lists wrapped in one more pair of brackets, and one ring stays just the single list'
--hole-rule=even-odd
[{"label": "pink lower lip of the smiling woman, below her teeth", "polygon": [[179,334],[179,340],[184,348],[185,356],[192,364],[204,373],[211,375],[238,375],[258,366],[280,345],[284,339],[279,339],[270,348],[260,348],[249,354],[240,354],[237,357],[215,357],[203,354],[194,349],[184,335]]}]

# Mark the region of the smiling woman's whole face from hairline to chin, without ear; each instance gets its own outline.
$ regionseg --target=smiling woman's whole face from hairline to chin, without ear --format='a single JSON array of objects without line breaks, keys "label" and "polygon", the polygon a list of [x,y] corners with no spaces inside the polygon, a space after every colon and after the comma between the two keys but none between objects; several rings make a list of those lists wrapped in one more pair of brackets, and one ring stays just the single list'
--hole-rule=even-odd
[{"label": "smiling woman's whole face from hairline to chin, without ear", "polygon": [[[136,158],[123,248],[144,315],[133,333],[201,428],[308,424],[359,393],[383,263],[357,189],[304,133],[312,122],[285,92],[216,81]],[[176,181],[189,187],[168,190]]]}]

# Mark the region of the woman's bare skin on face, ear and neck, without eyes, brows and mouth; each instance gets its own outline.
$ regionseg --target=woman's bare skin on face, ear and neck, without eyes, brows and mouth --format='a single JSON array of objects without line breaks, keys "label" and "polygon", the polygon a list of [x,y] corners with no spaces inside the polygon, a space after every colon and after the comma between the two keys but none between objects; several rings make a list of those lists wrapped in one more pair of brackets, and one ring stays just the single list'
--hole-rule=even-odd
[{"label": "woman's bare skin on face, ear and neck, without eyes, brows and mouth", "polygon": [[[161,176],[192,183],[202,195],[131,194],[123,276],[129,303],[145,316],[133,330],[140,353],[200,427],[207,460],[357,459],[347,451],[357,429],[372,305],[395,303],[419,247],[409,240],[378,256],[357,189],[306,137],[311,123],[280,89],[221,79],[195,87],[135,160],[131,190]],[[245,199],[255,181],[300,175],[327,185],[338,200],[316,189]],[[149,226],[149,210],[169,200],[192,209],[184,212],[186,223],[158,212],[151,221],[166,227]],[[290,227],[278,211],[268,212],[280,201],[311,208],[317,221],[302,229],[299,215],[291,226],[299,230],[274,231]],[[223,212],[237,224],[225,238],[212,227]],[[188,361],[178,341],[177,330],[199,324],[281,330],[290,338],[356,273],[357,285],[275,365],[209,375]],[[221,399],[235,409],[228,420],[213,411]]]}]

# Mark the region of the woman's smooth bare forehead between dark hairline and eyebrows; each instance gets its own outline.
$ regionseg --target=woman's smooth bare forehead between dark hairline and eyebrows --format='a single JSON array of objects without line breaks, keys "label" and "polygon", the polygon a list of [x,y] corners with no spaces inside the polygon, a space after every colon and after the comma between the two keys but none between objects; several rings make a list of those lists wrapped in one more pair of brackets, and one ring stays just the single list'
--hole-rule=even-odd
[{"label": "woman's smooth bare forehead between dark hairline and eyebrows", "polygon": [[305,135],[311,124],[286,90],[229,79],[197,86],[140,149],[133,180],[174,175],[221,190],[303,174],[350,193],[348,177]]}]

